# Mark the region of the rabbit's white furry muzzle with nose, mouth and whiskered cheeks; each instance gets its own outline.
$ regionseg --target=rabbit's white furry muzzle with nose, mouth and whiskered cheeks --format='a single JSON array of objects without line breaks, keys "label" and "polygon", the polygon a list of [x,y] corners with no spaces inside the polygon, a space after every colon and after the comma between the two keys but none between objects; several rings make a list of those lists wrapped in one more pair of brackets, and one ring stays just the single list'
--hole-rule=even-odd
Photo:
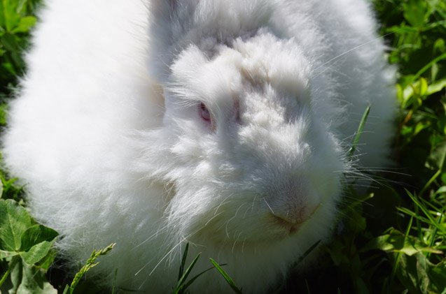
[{"label": "rabbit's white furry muzzle with nose, mouth and whiskered cheeks", "polygon": [[[215,152],[209,156],[213,160],[204,159],[191,169],[191,179],[175,182],[169,210],[175,235],[180,231],[198,243],[234,246],[279,242],[305,232],[306,226],[328,231],[343,163],[333,160],[339,156],[333,154],[335,142],[326,145],[322,134],[319,142],[300,142],[300,127],[305,126],[297,123],[271,132],[244,126],[231,150],[218,149],[216,141],[207,145]],[[288,164],[277,166],[277,161]]]}]

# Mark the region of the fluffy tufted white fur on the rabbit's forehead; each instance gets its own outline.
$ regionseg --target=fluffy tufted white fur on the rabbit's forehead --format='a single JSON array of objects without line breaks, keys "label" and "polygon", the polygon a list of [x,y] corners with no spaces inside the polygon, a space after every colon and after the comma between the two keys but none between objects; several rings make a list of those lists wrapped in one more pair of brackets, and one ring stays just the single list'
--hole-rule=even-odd
[{"label": "fluffy tufted white fur on the rabbit's forehead", "polygon": [[231,115],[242,124],[274,126],[311,108],[309,65],[292,40],[265,34],[214,47],[211,57],[196,45],[181,53],[172,66],[167,104],[203,102],[217,126]]}]

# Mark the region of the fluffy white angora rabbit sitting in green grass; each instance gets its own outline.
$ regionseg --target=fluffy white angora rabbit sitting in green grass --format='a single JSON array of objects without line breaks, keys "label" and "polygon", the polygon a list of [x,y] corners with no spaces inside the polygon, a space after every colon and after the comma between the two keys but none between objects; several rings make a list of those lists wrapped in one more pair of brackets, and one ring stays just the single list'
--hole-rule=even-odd
[{"label": "fluffy white angora rabbit sitting in green grass", "polygon": [[[108,284],[171,291],[189,242],[195,273],[214,258],[269,291],[328,240],[349,172],[388,161],[364,0],[48,0],[40,19],[4,158],[71,265],[116,242]],[[216,270],[191,287],[231,291]]]}]

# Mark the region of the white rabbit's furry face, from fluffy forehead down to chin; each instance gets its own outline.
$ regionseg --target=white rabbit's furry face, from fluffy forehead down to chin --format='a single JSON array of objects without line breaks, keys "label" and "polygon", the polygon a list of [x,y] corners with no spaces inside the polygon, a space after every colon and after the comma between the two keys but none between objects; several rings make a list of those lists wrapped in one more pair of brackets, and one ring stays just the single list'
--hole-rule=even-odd
[{"label": "white rabbit's furry face, from fluffy forehead down to chin", "polygon": [[[169,152],[182,166],[169,171],[176,193],[168,218],[176,230],[181,220],[183,236],[288,237],[273,215],[305,214],[340,194],[340,148],[312,118],[310,68],[298,49],[263,34],[218,45],[211,56],[190,45],[172,65],[165,124],[176,129]],[[212,126],[198,115],[200,103]]]}]

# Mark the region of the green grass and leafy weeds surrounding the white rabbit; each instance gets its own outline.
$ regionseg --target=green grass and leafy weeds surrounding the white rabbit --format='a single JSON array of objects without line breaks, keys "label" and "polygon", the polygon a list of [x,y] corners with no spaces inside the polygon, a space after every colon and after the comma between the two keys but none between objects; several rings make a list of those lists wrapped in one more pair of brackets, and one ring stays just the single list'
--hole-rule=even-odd
[{"label": "green grass and leafy weeds surrounding the white rabbit", "polygon": [[[319,263],[305,272],[293,272],[277,293],[446,293],[446,2],[373,3],[382,23],[379,34],[389,45],[387,58],[398,67],[396,166],[381,175],[379,189],[366,195],[351,191],[352,199],[342,207],[345,216],[337,224],[332,244],[323,247]],[[25,71],[20,56],[35,22],[35,6],[36,1],[0,1],[1,126],[5,126],[5,103]],[[4,172],[0,177],[1,198],[26,206],[21,187]],[[6,207],[6,201],[0,203]],[[18,204],[11,208],[12,203],[3,212],[0,207],[0,212],[22,215],[27,226],[21,227],[23,240],[8,243],[15,244],[10,247],[0,234],[0,284],[51,287],[45,272],[54,252],[48,249],[29,256],[24,251],[44,242],[48,248],[54,233],[29,219]],[[27,230],[40,237],[29,240]],[[188,283],[184,267],[178,289]],[[22,273],[21,279],[10,274],[14,271]],[[237,288],[237,281],[223,278],[228,289]]]}]

